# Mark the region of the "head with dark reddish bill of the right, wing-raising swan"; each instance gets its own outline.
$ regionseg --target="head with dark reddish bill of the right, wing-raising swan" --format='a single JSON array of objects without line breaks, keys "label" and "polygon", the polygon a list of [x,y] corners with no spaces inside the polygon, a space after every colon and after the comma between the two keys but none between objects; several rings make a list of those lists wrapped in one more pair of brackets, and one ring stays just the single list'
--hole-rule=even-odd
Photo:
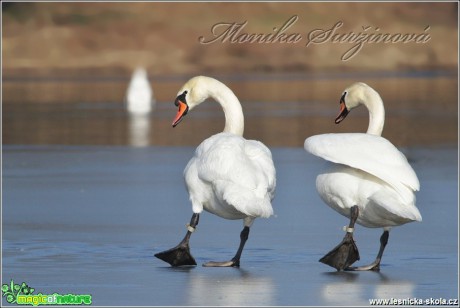
[{"label": "head with dark reddish bill of the right, wing-raising swan", "polygon": [[342,93],[342,97],[340,97],[340,112],[335,118],[335,124],[342,122],[353,108],[364,104],[369,91],[374,90],[363,82],[354,83],[346,88]]}]

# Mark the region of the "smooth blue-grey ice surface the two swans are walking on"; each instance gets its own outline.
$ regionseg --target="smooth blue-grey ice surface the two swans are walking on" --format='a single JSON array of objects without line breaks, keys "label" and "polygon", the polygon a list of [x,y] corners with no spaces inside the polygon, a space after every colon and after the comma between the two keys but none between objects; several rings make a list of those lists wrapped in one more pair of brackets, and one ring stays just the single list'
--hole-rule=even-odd
[{"label": "smooth blue-grey ice surface the two swans are walking on", "polygon": [[[373,298],[458,298],[457,147],[404,148],[417,172],[423,222],[392,229],[380,272],[336,272],[318,259],[340,242],[345,217],[315,190],[323,162],[273,148],[276,215],[251,228],[240,268],[241,221],[203,213],[191,238],[199,265],[155,258],[192,215],[182,171],[192,147],[3,146],[2,282],[35,294],[90,294],[110,306],[369,305]],[[357,226],[361,260],[381,229]],[[6,305],[2,298],[2,305]]]}]

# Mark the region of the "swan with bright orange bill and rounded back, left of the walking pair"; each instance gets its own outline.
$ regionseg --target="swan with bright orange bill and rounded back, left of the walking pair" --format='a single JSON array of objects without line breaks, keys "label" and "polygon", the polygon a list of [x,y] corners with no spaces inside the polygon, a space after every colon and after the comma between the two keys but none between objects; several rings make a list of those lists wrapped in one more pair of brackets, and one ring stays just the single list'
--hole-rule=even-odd
[{"label": "swan with bright orange bill and rounded back, left of the walking pair", "polygon": [[217,101],[225,114],[225,127],[204,140],[184,170],[193,215],[184,239],[176,247],[155,254],[172,266],[193,266],[189,239],[203,210],[225,219],[242,219],[240,245],[230,261],[207,262],[207,267],[239,267],[249,230],[257,217],[273,215],[276,172],[270,150],[260,141],[243,138],[244,118],[235,94],[222,82],[205,76],[190,79],[179,90],[172,126],[207,98]]}]

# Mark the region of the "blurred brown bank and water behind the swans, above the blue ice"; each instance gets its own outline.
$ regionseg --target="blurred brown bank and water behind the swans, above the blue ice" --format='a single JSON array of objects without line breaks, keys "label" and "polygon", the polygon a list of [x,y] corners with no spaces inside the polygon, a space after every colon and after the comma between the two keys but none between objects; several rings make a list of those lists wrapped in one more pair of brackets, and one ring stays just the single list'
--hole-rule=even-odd
[{"label": "blurred brown bank and water behind the swans, above the blue ice", "polygon": [[[223,22],[269,34],[294,15],[286,32],[302,36],[296,44],[198,39]],[[350,43],[305,46],[312,30],[338,21],[339,33],[370,26],[431,40],[366,44],[348,61]],[[342,91],[356,81],[381,94],[383,135],[394,144],[457,144],[457,25],[456,2],[2,3],[3,144],[196,146],[223,129],[224,116],[208,102],[171,127],[177,91],[195,75],[229,86],[245,137],[268,146],[365,132],[364,108],[334,124]]]}]

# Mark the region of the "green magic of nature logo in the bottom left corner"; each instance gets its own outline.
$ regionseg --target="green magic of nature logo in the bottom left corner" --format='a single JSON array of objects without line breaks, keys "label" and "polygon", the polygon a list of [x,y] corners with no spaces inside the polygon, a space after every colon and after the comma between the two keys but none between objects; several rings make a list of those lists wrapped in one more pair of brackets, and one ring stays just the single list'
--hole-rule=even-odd
[{"label": "green magic of nature logo in the bottom left corner", "polygon": [[91,305],[92,299],[89,294],[33,294],[34,288],[25,282],[15,284],[13,280],[9,284],[2,285],[2,297],[10,304],[17,305]]}]

